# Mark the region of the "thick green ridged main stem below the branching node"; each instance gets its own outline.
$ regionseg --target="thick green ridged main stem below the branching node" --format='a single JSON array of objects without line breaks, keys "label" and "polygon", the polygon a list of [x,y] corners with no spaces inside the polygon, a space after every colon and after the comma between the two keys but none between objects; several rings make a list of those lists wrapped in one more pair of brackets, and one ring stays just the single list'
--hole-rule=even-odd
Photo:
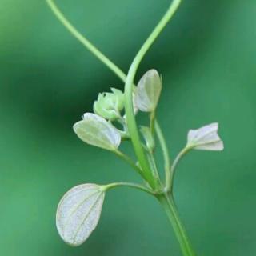
[{"label": "thick green ridged main stem below the branching node", "polygon": [[186,230],[182,226],[182,222],[178,215],[178,210],[174,204],[174,199],[168,194],[158,196],[158,200],[166,211],[170,224],[173,226],[174,233],[178,239],[183,256],[195,256],[194,250],[191,247],[190,240],[186,234]]}]

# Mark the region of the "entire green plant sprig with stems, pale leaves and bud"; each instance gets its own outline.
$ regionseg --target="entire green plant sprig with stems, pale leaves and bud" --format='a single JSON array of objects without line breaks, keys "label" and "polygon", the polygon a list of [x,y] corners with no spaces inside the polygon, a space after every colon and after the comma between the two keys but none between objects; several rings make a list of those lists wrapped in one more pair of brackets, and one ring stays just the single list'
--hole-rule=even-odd
[{"label": "entire green plant sprig with stems, pale leaves and bud", "polygon": [[[90,236],[98,225],[107,190],[118,186],[128,186],[153,195],[166,210],[166,214],[173,226],[179,245],[184,256],[194,256],[186,230],[179,218],[174,203],[173,183],[174,173],[178,162],[190,150],[223,150],[223,142],[218,137],[218,123],[203,126],[198,130],[190,130],[187,135],[187,144],[174,159],[170,161],[170,154],[161,126],[157,121],[157,106],[162,91],[162,78],[156,70],[149,70],[144,74],[136,86],[134,77],[138,66],[158,38],[166,24],[174,16],[181,0],[173,0],[158,25],[136,54],[126,74],[98,50],[66,19],[52,0],[46,0],[50,9],[66,29],[82,42],[92,54],[114,72],[125,83],[125,90],[111,88],[111,92],[98,95],[94,102],[94,113],[86,113],[82,120],[74,124],[74,132],[83,142],[98,146],[118,155],[141,175],[146,185],[131,182],[114,182],[100,186],[83,184],[69,190],[59,202],[57,210],[57,227],[62,239],[71,246],[79,246]],[[142,111],[148,114],[148,126],[138,128],[136,114]],[[115,126],[122,125],[122,130]],[[163,160],[165,181],[160,179],[157,162],[154,157],[155,137],[160,143]],[[142,142],[142,138],[144,142]],[[134,147],[137,160],[121,152],[118,148],[123,140],[130,140]]]}]

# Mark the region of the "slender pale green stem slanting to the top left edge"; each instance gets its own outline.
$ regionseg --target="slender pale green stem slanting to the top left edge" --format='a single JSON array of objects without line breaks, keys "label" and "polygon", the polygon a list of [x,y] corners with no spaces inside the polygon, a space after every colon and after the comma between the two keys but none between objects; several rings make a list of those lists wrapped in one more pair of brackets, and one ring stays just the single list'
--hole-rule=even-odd
[{"label": "slender pale green stem slanting to the top left edge", "polygon": [[74,38],[77,38],[83,46],[86,46],[86,48],[90,50],[90,52],[94,54],[100,61],[102,61],[110,70],[112,70],[114,74],[121,78],[123,82],[126,82],[126,74],[124,74],[122,70],[114,64],[114,62],[111,62],[110,59],[106,57],[106,55],[102,54],[100,50],[98,50],[88,39],[86,39],[80,32],[78,32],[78,30],[66,19],[64,14],[62,14],[61,10],[58,9],[54,1],[46,0],[46,2],[58,20],[62,22],[63,26],[65,26],[66,29],[69,30],[71,34],[73,34]]}]

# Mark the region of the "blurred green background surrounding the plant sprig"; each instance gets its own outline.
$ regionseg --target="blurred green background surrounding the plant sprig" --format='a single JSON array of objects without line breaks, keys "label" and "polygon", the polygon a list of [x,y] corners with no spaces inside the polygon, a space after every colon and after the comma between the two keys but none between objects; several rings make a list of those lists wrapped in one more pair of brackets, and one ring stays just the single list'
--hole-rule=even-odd
[{"label": "blurred green background surrounding the plant sprig", "polygon": [[[170,1],[57,3],[126,71]],[[190,128],[220,123],[226,150],[192,152],[175,180],[198,255],[256,254],[255,41],[255,0],[183,1],[138,72],[162,73],[158,119],[172,156]],[[1,255],[181,255],[158,203],[129,189],[107,194],[98,229],[83,246],[71,248],[58,237],[55,210],[66,190],[83,182],[139,181],[71,128],[110,86],[123,84],[45,1],[0,0]]]}]

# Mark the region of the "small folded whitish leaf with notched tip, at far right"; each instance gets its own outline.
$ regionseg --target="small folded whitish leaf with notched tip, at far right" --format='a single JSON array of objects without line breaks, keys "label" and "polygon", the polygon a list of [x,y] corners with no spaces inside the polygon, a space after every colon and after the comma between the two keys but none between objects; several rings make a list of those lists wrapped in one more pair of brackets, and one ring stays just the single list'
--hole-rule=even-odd
[{"label": "small folded whitish leaf with notched tip, at far right", "polygon": [[218,136],[218,123],[214,122],[198,130],[190,130],[187,138],[187,147],[194,150],[223,150],[224,145]]}]

